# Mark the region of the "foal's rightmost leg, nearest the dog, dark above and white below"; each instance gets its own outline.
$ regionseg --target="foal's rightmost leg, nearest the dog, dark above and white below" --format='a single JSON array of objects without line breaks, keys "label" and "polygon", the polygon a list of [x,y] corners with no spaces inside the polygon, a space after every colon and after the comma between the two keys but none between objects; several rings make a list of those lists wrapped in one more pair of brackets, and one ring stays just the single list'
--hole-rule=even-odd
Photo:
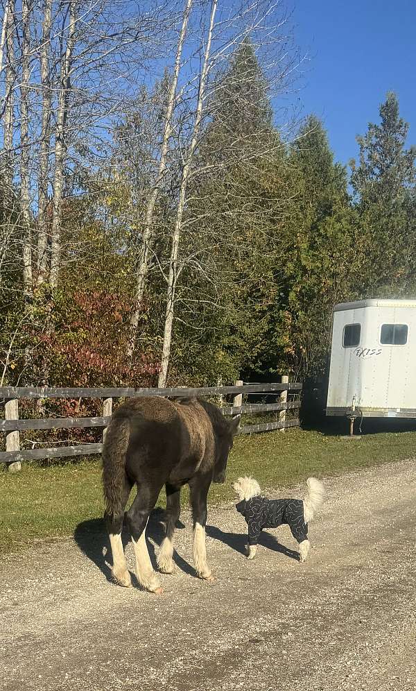
[{"label": "foal's rightmost leg, nearest the dog, dark above and white below", "polygon": [[189,481],[193,515],[193,561],[196,573],[207,581],[214,580],[207,564],[205,525],[207,524],[207,496],[211,478],[193,477]]}]

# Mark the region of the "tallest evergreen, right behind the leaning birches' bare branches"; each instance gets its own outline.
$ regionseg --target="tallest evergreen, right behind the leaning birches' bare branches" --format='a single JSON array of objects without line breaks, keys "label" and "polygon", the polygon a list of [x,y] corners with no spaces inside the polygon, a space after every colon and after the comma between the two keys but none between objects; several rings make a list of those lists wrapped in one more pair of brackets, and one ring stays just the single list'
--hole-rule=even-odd
[{"label": "tallest evergreen, right behind the leaning birches' bare branches", "polygon": [[[281,199],[273,190],[284,159],[266,76],[249,39],[218,76],[209,112],[189,207],[198,225],[188,238],[208,248],[199,256],[211,272],[210,324],[223,366],[236,374],[259,365],[275,308]],[[202,296],[204,289],[206,281]]]}]

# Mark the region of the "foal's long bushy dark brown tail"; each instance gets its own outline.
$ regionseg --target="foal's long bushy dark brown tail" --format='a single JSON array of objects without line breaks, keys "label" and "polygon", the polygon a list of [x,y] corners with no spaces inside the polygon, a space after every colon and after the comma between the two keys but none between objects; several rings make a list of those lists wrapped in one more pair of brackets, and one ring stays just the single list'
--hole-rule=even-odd
[{"label": "foal's long bushy dark brown tail", "polygon": [[125,506],[125,454],[130,438],[130,420],[114,416],[103,445],[103,490],[105,517],[119,520]]}]

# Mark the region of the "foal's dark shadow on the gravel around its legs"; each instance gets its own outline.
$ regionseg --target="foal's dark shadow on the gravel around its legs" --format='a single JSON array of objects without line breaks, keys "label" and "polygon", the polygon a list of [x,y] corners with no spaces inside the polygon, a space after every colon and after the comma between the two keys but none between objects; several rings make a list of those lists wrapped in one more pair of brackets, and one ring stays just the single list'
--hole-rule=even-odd
[{"label": "foal's dark shadow on the gravel around its legs", "polygon": [[[177,522],[177,528],[184,527],[185,526],[182,522]],[[147,544],[150,560],[153,563],[153,568],[157,570],[155,545],[153,543],[160,545],[164,537],[163,509],[154,509],[150,514],[148,526],[146,528],[146,537],[148,538]],[[113,583],[114,581],[112,581],[111,574],[112,555],[110,549],[110,539],[108,537],[103,518],[92,518],[91,520],[85,520],[81,523],[78,523],[74,531],[73,538],[81,552],[83,552],[83,554],[85,554],[85,556],[87,556],[96,565],[96,567],[104,574],[107,581]],[[123,527],[121,539],[123,540],[123,549],[125,550],[125,547],[130,541],[130,535],[125,527]],[[185,573],[195,574],[195,570],[191,567],[191,565],[189,565],[189,563],[176,552],[173,554],[173,561],[175,561],[177,567]],[[133,583],[138,586],[135,574],[132,574],[132,577]]]}]

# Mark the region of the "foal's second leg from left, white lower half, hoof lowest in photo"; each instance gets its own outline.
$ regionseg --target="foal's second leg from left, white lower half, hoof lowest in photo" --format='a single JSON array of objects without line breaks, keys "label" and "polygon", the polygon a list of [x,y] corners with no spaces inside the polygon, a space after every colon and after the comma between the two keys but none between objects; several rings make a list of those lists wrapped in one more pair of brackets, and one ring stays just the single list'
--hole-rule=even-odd
[{"label": "foal's second leg from left, white lower half, hoof lowest in photo", "polygon": [[161,595],[163,590],[153,571],[146,545],[146,525],[159,496],[160,487],[150,488],[141,485],[137,490],[135,501],[126,514],[133,547],[135,549],[137,579],[141,586],[150,592]]}]

